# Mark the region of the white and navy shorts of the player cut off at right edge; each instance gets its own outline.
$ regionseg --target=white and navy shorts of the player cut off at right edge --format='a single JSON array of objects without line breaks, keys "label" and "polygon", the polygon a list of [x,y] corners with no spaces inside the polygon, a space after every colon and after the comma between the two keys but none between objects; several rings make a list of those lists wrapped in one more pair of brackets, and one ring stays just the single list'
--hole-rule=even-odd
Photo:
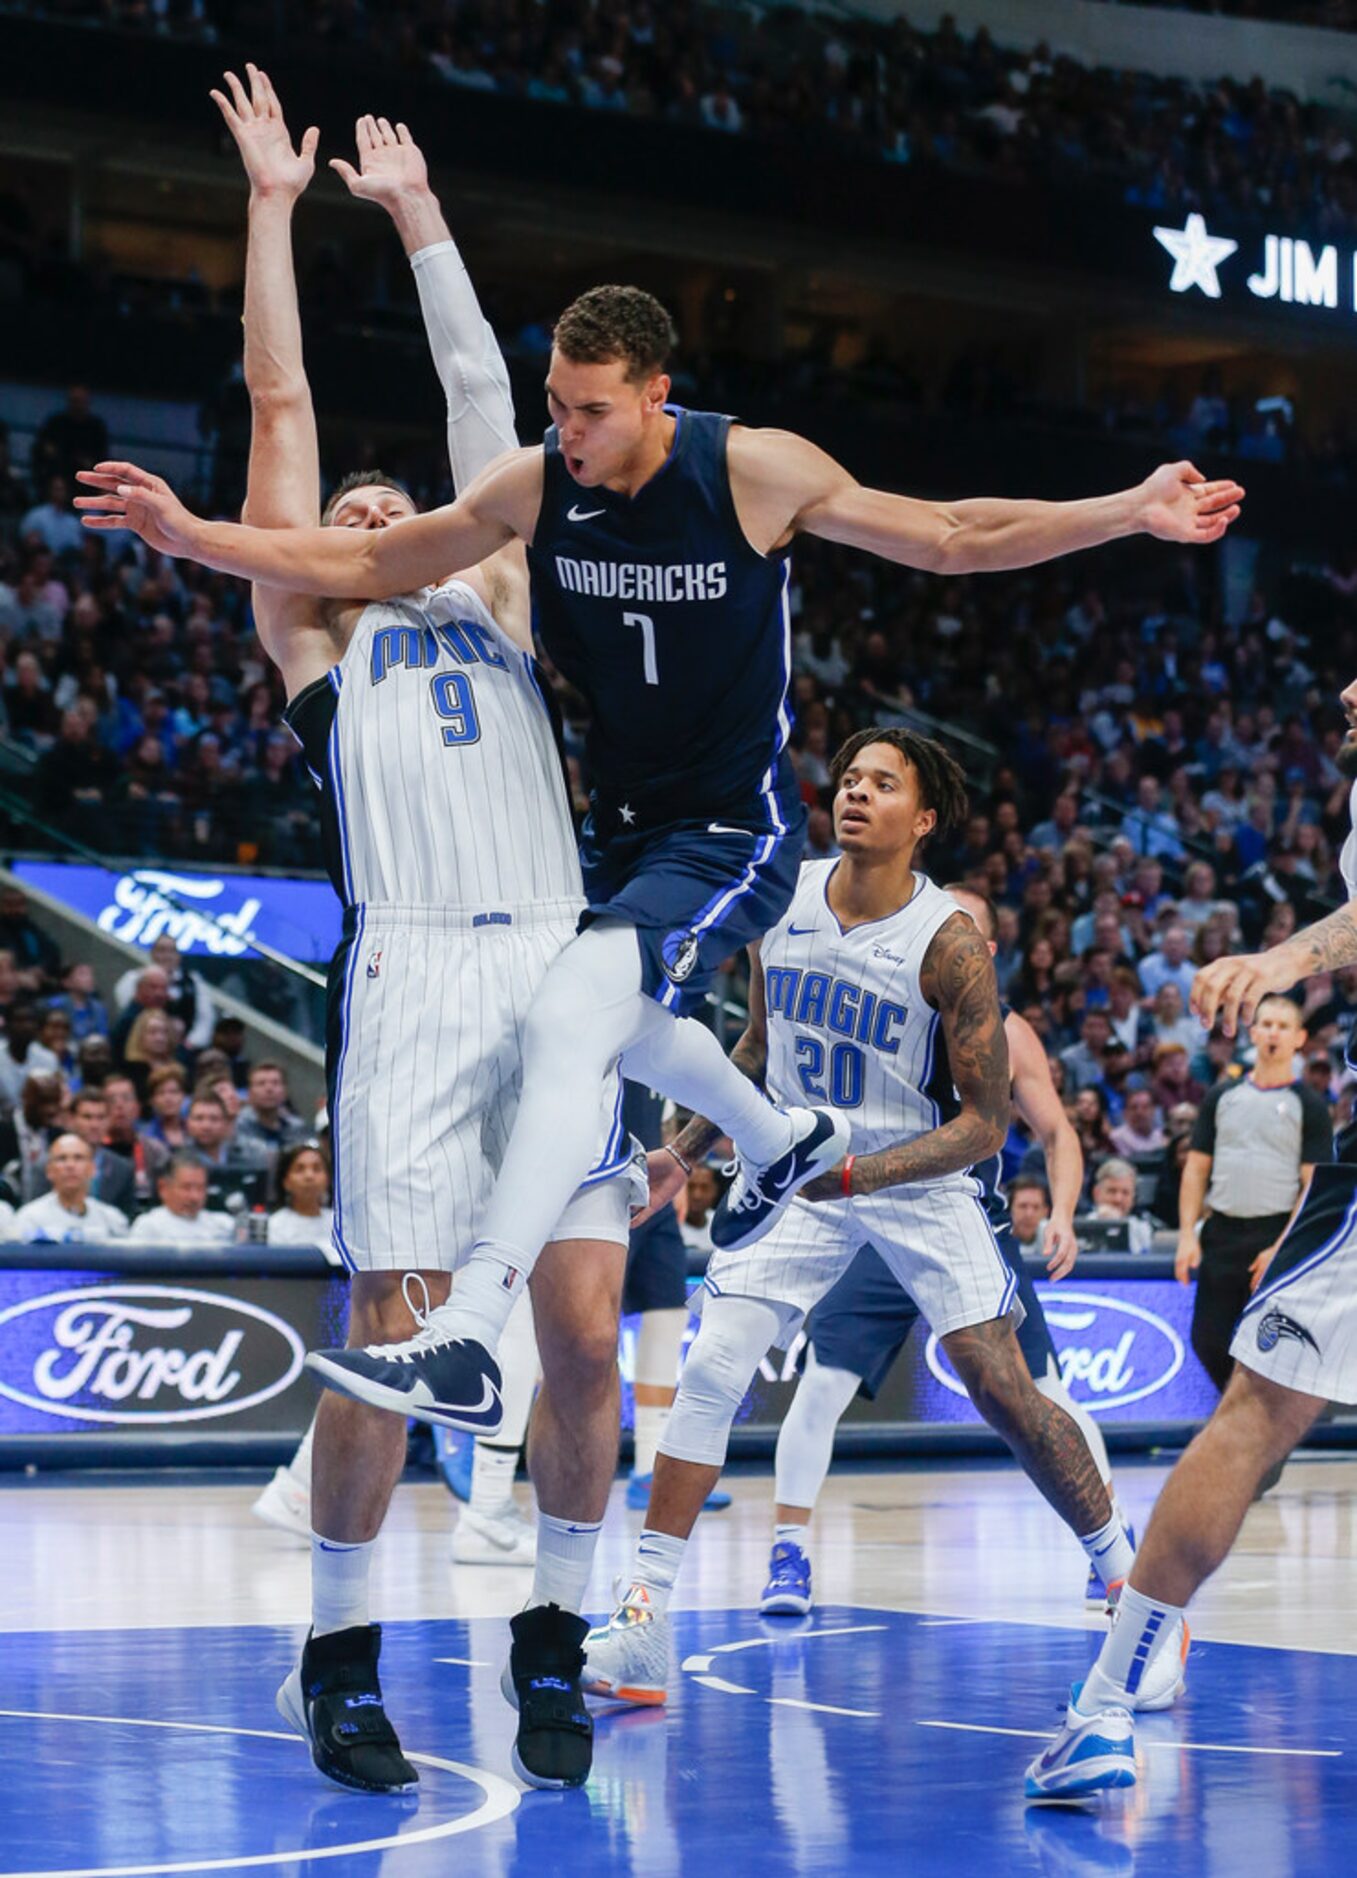
[{"label": "white and navy shorts of the player cut off at right edge", "polygon": [[1301,1211],[1244,1305],[1229,1354],[1269,1382],[1357,1403],[1357,1166],[1314,1170]]}]

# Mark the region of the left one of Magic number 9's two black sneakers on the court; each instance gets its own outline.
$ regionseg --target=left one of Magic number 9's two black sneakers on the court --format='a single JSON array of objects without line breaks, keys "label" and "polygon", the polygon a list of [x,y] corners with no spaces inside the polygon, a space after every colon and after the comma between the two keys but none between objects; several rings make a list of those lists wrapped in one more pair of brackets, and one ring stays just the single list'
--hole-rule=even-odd
[{"label": "left one of Magic number 9's two black sneakers on the court", "polygon": [[278,1713],[312,1747],[327,1780],[358,1793],[409,1793],[419,1775],[400,1752],[377,1681],[381,1624],[306,1638],[278,1690]]}]

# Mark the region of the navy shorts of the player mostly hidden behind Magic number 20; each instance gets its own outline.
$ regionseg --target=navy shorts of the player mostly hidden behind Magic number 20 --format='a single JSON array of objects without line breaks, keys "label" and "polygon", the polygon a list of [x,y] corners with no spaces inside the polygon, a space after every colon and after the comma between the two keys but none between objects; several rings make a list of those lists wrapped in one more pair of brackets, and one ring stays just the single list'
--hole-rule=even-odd
[{"label": "navy shorts of the player mostly hidden behind Magic number 20", "polygon": [[[1034,1377],[1044,1377],[1047,1363],[1059,1371],[1042,1300],[1023,1264],[1021,1247],[1006,1226],[997,1230],[995,1238],[1017,1277],[1017,1296],[1025,1309],[1017,1343],[1027,1367]],[[815,1348],[815,1360],[822,1369],[846,1369],[848,1375],[861,1377],[858,1393],[873,1401],[920,1315],[920,1307],[880,1253],[863,1245],[833,1290],[826,1292],[811,1313],[807,1343]]]}]

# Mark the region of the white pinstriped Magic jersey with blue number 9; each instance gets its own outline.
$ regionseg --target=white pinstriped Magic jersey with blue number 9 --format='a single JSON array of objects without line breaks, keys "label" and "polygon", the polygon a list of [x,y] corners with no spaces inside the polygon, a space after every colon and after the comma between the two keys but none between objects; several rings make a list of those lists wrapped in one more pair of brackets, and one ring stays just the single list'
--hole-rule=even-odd
[{"label": "white pinstriped Magic jersey with blue number 9", "polygon": [[364,607],[340,663],[285,716],[325,796],[345,905],[582,903],[535,665],[462,580]]}]

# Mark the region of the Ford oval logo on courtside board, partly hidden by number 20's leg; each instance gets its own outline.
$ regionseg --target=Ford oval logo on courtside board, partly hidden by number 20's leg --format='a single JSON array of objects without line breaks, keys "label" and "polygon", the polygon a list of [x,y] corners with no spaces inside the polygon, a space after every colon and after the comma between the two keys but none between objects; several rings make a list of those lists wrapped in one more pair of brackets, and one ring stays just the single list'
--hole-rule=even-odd
[{"label": "Ford oval logo on courtside board, partly hidden by number 20's leg", "polygon": [[[1098,1414],[1156,1395],[1182,1369],[1182,1337],[1145,1305],[1104,1292],[1042,1286],[1042,1307],[1070,1395]],[[927,1365],[953,1395],[965,1395],[937,1337]]]}]

